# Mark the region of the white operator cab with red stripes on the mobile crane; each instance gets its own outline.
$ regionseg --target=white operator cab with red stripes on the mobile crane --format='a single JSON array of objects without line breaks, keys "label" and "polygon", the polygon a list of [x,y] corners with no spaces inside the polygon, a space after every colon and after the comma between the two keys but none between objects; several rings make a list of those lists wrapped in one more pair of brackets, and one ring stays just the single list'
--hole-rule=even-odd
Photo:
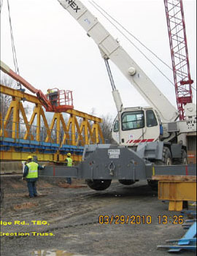
[{"label": "white operator cab with red stripes on the mobile crane", "polygon": [[123,108],[115,118],[112,138],[121,146],[159,140],[163,135],[161,120],[152,108]]}]

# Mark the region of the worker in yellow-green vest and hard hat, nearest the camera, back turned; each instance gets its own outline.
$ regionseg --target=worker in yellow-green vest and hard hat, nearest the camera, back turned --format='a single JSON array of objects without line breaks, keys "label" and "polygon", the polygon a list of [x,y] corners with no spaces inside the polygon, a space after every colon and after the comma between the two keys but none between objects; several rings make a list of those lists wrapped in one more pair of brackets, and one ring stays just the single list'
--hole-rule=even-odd
[{"label": "worker in yellow-green vest and hard hat, nearest the camera, back turned", "polygon": [[38,170],[45,168],[45,165],[39,165],[33,161],[32,156],[28,156],[27,163],[24,169],[23,178],[26,178],[29,197],[36,197],[36,181],[38,179]]}]

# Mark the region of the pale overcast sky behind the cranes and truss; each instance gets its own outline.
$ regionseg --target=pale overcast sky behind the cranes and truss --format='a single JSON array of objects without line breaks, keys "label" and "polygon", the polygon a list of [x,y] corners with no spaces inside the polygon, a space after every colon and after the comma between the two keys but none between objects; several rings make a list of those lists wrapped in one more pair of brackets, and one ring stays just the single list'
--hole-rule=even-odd
[{"label": "pale overcast sky behind the cranes and truss", "polygon": [[[95,0],[126,29],[171,66],[169,37],[163,0]],[[119,32],[109,25],[88,1],[82,1],[112,35],[119,39],[131,58],[176,106],[174,87],[141,56]],[[93,39],[57,0],[9,0],[12,29],[20,75],[46,93],[58,87],[73,91],[74,108],[97,116],[116,115],[104,60]],[[196,1],[183,0],[191,77],[196,88]],[[144,52],[150,57],[150,54]],[[1,10],[1,60],[14,69],[9,34],[7,1]],[[172,72],[155,59],[155,64],[172,80]],[[112,64],[112,73],[124,107],[146,106],[147,102]],[[28,92],[28,91],[26,91]],[[195,91],[194,91],[195,92]],[[196,98],[194,99],[196,100]]]}]

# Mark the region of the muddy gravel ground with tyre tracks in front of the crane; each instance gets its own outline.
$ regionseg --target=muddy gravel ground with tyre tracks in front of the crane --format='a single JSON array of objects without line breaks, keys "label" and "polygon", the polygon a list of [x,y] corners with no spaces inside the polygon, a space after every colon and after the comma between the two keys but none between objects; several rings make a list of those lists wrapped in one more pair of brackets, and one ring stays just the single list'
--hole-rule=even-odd
[{"label": "muddy gravel ground with tyre tracks in front of the crane", "polygon": [[[145,181],[131,186],[113,182],[101,192],[83,181],[74,180],[69,187],[60,178],[39,179],[37,185],[39,197],[30,199],[26,181],[1,177],[5,192],[1,233],[9,234],[1,236],[1,256],[168,255],[157,246],[186,232],[182,225],[170,223],[180,212],[168,211],[168,203],[158,200]],[[163,215],[168,217],[166,225],[158,224],[158,216]],[[140,221],[151,223],[135,223]]]}]

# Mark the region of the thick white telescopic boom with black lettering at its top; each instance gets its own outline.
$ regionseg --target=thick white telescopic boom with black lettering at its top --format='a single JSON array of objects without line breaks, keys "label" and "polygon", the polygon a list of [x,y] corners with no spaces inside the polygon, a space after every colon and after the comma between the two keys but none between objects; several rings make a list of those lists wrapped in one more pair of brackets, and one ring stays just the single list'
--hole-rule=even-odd
[{"label": "thick white telescopic boom with black lettering at its top", "polygon": [[131,56],[120,46],[116,39],[104,29],[81,1],[58,0],[64,9],[77,20],[83,29],[92,37],[101,50],[104,59],[110,59],[125,75],[130,83],[144,97],[152,108],[158,111],[161,120],[175,121],[179,116],[176,108],[169,102],[142,69],[131,59]]}]

